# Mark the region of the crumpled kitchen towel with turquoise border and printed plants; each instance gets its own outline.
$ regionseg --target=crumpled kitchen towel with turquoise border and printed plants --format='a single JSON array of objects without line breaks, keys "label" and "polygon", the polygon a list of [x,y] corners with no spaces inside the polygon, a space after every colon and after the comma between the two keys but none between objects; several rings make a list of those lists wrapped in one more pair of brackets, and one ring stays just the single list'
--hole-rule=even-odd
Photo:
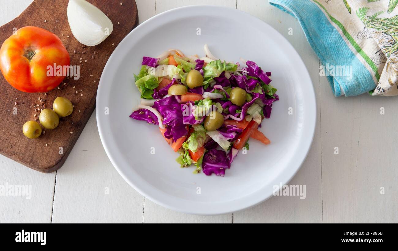
[{"label": "crumpled kitchen towel with turquoise border and printed plants", "polygon": [[398,0],[269,0],[298,19],[336,97],[398,95]]}]

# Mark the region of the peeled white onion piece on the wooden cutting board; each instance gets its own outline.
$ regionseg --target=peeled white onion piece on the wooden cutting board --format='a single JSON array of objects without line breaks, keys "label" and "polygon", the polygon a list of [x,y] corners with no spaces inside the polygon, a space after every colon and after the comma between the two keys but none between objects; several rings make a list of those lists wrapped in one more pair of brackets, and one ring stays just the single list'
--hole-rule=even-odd
[{"label": "peeled white onion piece on the wooden cutting board", "polygon": [[69,0],[66,14],[73,36],[83,45],[98,45],[113,31],[111,19],[85,0]]}]

